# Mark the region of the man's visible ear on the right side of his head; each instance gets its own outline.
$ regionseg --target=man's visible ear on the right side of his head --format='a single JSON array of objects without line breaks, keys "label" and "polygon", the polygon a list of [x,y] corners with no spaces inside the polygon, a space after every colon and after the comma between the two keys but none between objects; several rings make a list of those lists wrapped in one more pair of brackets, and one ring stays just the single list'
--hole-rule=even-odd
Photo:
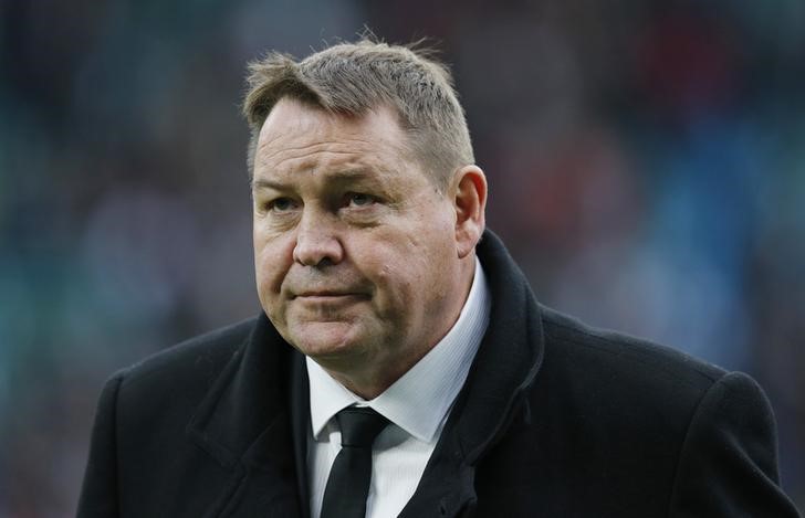
[{"label": "man's visible ear on the right side of his head", "polygon": [[487,226],[487,177],[478,166],[456,171],[451,189],[456,209],[456,244],[459,258],[467,257]]}]

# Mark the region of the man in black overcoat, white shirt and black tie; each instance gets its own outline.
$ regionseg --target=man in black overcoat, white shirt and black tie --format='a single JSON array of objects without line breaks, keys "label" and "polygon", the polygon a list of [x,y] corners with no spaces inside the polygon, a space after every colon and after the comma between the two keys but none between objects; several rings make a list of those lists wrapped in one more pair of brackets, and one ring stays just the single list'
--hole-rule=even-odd
[{"label": "man in black overcoat, white shirt and black tie", "polygon": [[108,381],[80,516],[797,516],[754,381],[536,303],[445,67],[249,86],[263,313]]}]

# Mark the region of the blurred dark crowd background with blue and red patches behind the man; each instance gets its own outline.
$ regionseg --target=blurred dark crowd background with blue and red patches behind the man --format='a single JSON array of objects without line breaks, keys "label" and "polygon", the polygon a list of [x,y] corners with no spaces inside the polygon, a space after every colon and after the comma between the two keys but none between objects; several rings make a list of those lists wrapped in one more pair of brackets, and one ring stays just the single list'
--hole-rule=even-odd
[{"label": "blurred dark crowd background with blue and red patches behind the man", "polygon": [[71,516],[104,380],[259,310],[244,63],[364,25],[438,42],[537,297],[754,376],[805,508],[805,3],[704,3],[0,0],[0,516]]}]

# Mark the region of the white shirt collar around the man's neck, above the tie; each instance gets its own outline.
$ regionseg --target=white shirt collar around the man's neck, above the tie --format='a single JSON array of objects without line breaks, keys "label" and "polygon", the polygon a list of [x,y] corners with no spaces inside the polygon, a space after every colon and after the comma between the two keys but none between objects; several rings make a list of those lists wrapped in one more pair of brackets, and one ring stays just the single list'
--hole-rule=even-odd
[{"label": "white shirt collar around the man's neck, above the tie", "polygon": [[490,306],[487,278],[475,257],[472,287],[453,327],[408,372],[369,401],[352,393],[306,358],[313,436],[321,438],[324,427],[342,409],[359,404],[370,406],[420,441],[433,441],[464,384],[489,324]]}]

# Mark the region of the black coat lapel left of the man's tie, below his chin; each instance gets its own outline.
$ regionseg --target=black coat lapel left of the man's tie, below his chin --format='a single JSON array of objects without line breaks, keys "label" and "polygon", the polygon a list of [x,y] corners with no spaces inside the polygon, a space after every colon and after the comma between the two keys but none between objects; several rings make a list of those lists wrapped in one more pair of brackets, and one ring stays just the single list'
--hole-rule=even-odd
[{"label": "black coat lapel left of the man's tie, below his chin", "polygon": [[304,516],[297,486],[304,465],[296,465],[294,451],[306,441],[293,434],[303,417],[289,410],[290,388],[306,387],[299,363],[301,355],[261,315],[190,421],[188,437],[230,473],[222,487],[199,488],[218,493],[208,517]]}]

